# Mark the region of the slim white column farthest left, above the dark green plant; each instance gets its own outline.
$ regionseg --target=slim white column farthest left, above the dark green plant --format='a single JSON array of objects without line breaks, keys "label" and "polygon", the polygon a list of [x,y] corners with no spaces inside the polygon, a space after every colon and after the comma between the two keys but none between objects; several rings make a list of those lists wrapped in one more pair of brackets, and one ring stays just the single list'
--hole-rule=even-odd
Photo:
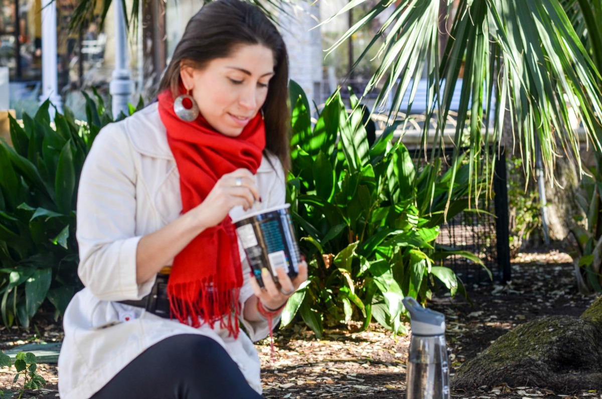
[{"label": "slim white column farthest left, above the dark green plant", "polygon": [[[42,0],[42,95],[40,102],[50,99],[63,112],[63,101],[58,93],[57,68],[57,3],[54,0]],[[51,108],[51,118],[54,110]]]}]

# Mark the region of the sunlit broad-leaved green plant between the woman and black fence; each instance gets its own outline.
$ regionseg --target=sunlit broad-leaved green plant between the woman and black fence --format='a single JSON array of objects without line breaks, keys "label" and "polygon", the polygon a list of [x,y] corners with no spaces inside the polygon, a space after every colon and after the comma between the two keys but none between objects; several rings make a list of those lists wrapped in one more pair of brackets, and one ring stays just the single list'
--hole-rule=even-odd
[{"label": "sunlit broad-leaved green plant between the woman and black fence", "polygon": [[[423,168],[394,141],[397,124],[368,146],[355,96],[348,113],[336,93],[312,127],[309,104],[291,82],[293,167],[288,202],[302,250],[308,255],[308,281],[283,313],[287,325],[298,312],[321,336],[324,325],[352,320],[367,327],[372,318],[404,333],[409,295],[430,298],[435,278],[456,294],[460,283],[437,261],[469,253],[435,245],[439,224],[468,208],[468,165],[441,174],[441,159]],[[446,205],[448,204],[448,207]]]}]

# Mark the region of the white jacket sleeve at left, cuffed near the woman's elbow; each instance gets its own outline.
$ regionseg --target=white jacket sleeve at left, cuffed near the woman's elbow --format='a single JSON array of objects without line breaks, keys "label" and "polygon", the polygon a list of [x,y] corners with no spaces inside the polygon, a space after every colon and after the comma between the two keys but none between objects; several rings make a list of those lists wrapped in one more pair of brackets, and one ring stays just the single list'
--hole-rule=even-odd
[{"label": "white jacket sleeve at left, cuffed near the woman's elbow", "polygon": [[96,137],[82,168],[77,200],[78,274],[99,299],[140,299],[154,278],[136,283],[136,171],[134,152],[122,125]]}]

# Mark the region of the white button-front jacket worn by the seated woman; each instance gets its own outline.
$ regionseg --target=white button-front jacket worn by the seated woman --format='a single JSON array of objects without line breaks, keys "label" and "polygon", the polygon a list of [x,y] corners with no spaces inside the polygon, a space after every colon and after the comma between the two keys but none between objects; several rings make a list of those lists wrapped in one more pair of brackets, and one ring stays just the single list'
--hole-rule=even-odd
[{"label": "white button-front jacket worn by the seated woman", "polygon": [[[249,336],[241,331],[234,339],[219,328],[219,322],[214,329],[209,325],[193,328],[115,302],[149,294],[154,278],[136,283],[138,240],[178,218],[182,210],[178,169],[157,106],[149,105],[103,128],[85,160],[77,204],[78,273],[85,288],[73,297],[63,319],[65,336],[58,359],[63,399],[91,397],[151,345],[190,333],[222,344],[249,385],[261,393],[259,357],[252,341],[268,335],[267,323],[241,319]],[[274,156],[270,161],[275,168],[264,157],[256,174],[262,209],[285,201],[281,163]],[[237,207],[230,215],[235,219],[244,211]],[[249,264],[240,243],[239,247],[244,310],[253,292]],[[129,321],[124,321],[127,316]]]}]

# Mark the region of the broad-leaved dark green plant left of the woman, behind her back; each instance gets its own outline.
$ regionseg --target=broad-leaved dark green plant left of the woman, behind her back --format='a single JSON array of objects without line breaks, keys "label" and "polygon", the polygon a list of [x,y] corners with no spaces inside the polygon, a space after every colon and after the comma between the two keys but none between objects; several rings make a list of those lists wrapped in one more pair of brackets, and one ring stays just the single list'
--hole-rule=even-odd
[{"label": "broad-leaved dark green plant left of the woman, behind her back", "polygon": [[[44,102],[10,119],[13,146],[0,142],[0,313],[23,327],[45,300],[58,317],[81,283],[75,240],[79,175],[92,143],[113,122],[102,98],[84,93],[87,123]],[[138,104],[140,107],[141,104]]]}]

